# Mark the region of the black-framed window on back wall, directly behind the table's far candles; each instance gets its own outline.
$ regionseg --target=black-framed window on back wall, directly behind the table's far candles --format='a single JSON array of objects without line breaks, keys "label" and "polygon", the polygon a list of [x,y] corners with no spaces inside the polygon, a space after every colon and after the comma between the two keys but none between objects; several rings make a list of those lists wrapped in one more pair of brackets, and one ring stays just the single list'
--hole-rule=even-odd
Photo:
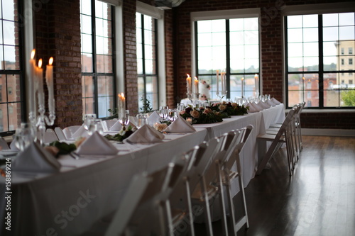
[{"label": "black-framed window on back wall, directly behind the table's far candles", "polygon": [[258,17],[195,21],[195,70],[198,79],[210,86],[211,99],[217,99],[216,71],[226,72],[227,98],[256,95],[259,77]]}]

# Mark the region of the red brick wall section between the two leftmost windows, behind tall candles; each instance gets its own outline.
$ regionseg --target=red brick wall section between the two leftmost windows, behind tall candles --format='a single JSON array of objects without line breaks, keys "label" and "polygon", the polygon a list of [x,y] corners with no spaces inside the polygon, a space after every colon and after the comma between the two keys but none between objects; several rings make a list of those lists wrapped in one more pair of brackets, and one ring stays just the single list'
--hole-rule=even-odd
[{"label": "red brick wall section between the two leftmost windows, behind tall candles", "polygon": [[82,123],[80,2],[43,2],[48,3],[33,1],[36,59],[43,58],[45,67],[49,57],[54,58],[55,126],[78,125]]}]

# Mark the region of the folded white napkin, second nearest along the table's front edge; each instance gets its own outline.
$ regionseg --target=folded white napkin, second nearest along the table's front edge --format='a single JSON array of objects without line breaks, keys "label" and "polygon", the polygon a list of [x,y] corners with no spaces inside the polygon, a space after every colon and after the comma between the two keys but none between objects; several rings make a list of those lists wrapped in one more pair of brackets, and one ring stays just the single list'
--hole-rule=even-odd
[{"label": "folded white napkin, second nearest along the table's front edge", "polygon": [[117,152],[119,151],[116,147],[97,131],[87,137],[87,139],[77,148],[77,154],[83,155],[115,155]]}]

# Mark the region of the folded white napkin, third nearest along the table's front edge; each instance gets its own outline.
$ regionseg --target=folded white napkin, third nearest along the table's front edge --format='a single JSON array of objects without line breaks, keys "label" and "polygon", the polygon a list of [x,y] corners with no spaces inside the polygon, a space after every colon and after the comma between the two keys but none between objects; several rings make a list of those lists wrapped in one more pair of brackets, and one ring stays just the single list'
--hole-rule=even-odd
[{"label": "folded white napkin, third nearest along the table's front edge", "polygon": [[150,125],[143,125],[136,130],[131,136],[127,137],[128,142],[163,142],[164,135],[159,133]]}]

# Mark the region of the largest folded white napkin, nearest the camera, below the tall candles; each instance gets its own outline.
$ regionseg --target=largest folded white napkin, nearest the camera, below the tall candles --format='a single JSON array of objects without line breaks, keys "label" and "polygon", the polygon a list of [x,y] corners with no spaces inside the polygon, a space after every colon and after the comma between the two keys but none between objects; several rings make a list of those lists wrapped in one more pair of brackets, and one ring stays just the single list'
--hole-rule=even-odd
[{"label": "largest folded white napkin, nearest the camera, below the tall candles", "polygon": [[18,172],[58,172],[61,165],[57,159],[37,142],[32,142],[13,160],[11,167]]}]

